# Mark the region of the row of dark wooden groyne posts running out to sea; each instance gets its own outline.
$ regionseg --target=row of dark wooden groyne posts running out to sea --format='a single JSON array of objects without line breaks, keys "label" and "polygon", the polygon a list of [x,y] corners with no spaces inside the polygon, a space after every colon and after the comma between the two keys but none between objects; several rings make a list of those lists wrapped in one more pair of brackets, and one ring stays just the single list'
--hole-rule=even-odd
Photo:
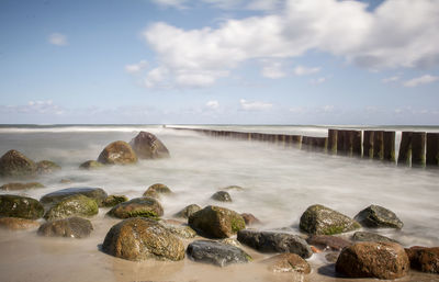
[{"label": "row of dark wooden groyne posts running out to sea", "polygon": [[396,132],[394,131],[329,128],[327,137],[314,137],[185,127],[167,128],[198,132],[215,138],[271,143],[285,148],[373,159],[395,163],[398,167],[439,168],[439,133],[402,132],[399,151],[396,159]]}]

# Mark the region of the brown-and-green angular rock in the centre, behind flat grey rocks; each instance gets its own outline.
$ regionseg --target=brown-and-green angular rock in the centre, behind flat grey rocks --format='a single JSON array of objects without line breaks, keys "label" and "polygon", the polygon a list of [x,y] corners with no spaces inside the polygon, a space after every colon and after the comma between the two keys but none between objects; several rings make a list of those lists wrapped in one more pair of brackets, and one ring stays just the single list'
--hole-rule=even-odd
[{"label": "brown-and-green angular rock in the centre, behind flat grey rocks", "polygon": [[238,213],[209,205],[189,216],[189,225],[196,232],[213,238],[227,238],[246,228],[243,216]]}]

